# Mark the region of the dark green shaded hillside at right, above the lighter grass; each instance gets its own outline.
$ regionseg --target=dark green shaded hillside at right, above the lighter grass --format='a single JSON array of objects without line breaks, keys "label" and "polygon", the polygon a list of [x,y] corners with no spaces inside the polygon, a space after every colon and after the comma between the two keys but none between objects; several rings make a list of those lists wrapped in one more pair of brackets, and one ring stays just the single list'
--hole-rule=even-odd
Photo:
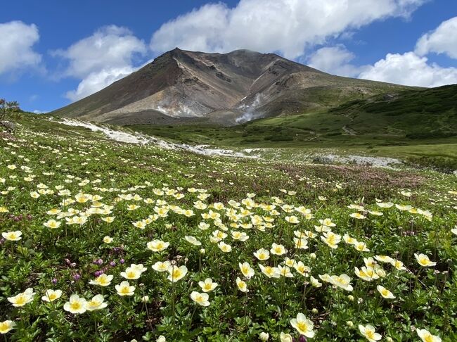
[{"label": "dark green shaded hillside at right, above the lighter grass", "polygon": [[356,134],[392,134],[410,139],[457,135],[457,86],[404,90],[356,100],[328,111],[349,120]]}]

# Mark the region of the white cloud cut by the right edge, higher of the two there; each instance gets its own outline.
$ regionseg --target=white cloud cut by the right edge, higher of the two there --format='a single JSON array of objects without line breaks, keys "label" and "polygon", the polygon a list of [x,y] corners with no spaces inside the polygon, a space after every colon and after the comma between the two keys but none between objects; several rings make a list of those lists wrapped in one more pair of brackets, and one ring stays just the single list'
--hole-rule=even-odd
[{"label": "white cloud cut by the right edge, higher of the two there", "polygon": [[420,37],[416,53],[424,56],[430,52],[445,53],[457,59],[457,17],[444,21],[435,30]]}]

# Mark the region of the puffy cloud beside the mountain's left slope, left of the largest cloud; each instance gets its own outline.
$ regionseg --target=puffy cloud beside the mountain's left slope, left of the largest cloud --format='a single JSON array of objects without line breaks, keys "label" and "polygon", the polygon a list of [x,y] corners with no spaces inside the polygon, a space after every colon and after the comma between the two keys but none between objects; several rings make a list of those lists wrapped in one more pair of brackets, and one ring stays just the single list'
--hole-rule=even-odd
[{"label": "puffy cloud beside the mountain's left slope, left of the largest cloud", "polygon": [[63,75],[81,80],[77,89],[65,94],[77,101],[134,72],[136,58],[146,51],[146,44],[130,30],[110,25],[53,55],[68,61]]}]

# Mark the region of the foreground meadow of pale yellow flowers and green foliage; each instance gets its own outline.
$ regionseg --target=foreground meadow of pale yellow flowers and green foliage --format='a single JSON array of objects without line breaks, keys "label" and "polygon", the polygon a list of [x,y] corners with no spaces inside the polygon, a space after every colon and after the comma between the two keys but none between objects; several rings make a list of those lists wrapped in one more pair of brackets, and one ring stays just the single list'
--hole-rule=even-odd
[{"label": "foreground meadow of pale yellow flowers and green foliage", "polygon": [[457,178],[0,139],[6,341],[457,341]]}]

